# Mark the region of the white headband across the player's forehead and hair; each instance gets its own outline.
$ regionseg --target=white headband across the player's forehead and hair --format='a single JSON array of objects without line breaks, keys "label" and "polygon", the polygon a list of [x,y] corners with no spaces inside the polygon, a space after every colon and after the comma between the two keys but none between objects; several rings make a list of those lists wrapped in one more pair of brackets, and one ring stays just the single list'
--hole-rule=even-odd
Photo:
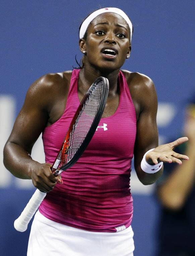
[{"label": "white headband across the player's forehead and hair", "polygon": [[119,14],[122,18],[124,18],[124,20],[127,22],[127,24],[129,25],[129,29],[130,29],[130,41],[132,38],[132,31],[133,31],[133,26],[132,23],[129,19],[129,17],[124,13],[124,11],[122,11],[121,9],[118,8],[103,8],[103,9],[99,9],[97,11],[94,11],[93,13],[91,13],[82,23],[81,28],[80,28],[80,32],[79,32],[79,38],[83,38],[84,34],[87,30],[87,27],[89,25],[89,23],[98,15],[104,13],[104,12],[114,12],[116,14]]}]

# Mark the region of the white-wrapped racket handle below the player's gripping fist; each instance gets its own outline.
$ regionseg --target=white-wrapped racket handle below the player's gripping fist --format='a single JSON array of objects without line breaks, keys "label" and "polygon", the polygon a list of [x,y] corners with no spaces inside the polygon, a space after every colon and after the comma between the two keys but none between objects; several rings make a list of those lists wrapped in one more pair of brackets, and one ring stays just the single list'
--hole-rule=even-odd
[{"label": "white-wrapped racket handle below the player's gripping fist", "polygon": [[29,221],[33,218],[33,215],[39,208],[46,194],[47,193],[41,192],[39,189],[35,191],[20,216],[14,221],[14,227],[17,231],[26,231]]}]

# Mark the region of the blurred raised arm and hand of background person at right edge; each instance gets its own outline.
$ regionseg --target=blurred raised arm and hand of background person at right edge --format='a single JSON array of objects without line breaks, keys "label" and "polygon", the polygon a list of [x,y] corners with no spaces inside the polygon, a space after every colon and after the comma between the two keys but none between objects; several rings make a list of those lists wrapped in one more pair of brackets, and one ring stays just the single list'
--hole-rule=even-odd
[{"label": "blurred raised arm and hand of background person at right edge", "polygon": [[195,185],[195,117],[188,116],[185,134],[189,137],[185,152],[189,160],[177,166],[167,181],[157,188],[160,202],[172,210],[182,208]]}]

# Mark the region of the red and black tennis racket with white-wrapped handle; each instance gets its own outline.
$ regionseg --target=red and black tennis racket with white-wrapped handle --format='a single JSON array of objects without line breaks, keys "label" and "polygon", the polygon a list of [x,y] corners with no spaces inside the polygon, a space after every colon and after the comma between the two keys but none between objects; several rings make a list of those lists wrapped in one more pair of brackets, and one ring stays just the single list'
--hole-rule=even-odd
[{"label": "red and black tennis racket with white-wrapped handle", "polygon": [[[51,167],[54,175],[70,168],[82,155],[95,133],[102,117],[109,91],[108,79],[99,77],[83,97],[70,123],[62,147]],[[61,167],[59,167],[61,165]],[[19,232],[27,229],[28,223],[37,211],[47,193],[37,189],[20,216],[14,221]]]}]

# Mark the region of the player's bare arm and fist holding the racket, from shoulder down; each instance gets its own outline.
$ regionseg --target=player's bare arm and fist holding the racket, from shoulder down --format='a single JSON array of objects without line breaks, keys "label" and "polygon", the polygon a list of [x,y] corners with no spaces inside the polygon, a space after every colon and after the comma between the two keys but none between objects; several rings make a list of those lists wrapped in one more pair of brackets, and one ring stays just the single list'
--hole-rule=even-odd
[{"label": "player's bare arm and fist holding the racket, from shoulder down", "polygon": [[50,164],[34,161],[30,154],[34,143],[48,122],[52,106],[52,81],[46,75],[30,86],[11,135],[4,147],[4,165],[16,177],[32,179],[36,188],[50,191],[58,178]]}]

